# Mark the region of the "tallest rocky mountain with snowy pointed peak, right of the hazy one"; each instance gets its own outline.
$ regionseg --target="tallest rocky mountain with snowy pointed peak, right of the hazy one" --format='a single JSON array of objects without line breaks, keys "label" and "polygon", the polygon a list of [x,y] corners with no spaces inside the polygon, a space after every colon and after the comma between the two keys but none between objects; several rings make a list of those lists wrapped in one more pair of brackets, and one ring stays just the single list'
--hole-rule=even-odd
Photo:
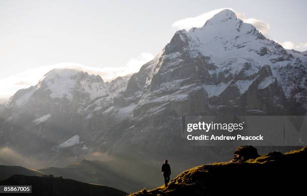
[{"label": "tallest rocky mountain with snowy pointed peak, right of the hazy one", "polygon": [[181,157],[180,162],[200,152],[206,154],[200,161],[221,160],[230,149],[185,144],[182,115],[304,115],[306,67],[304,53],[283,49],[224,10],[202,28],[176,32],[131,76],[114,108],[104,111],[107,121],[117,112],[127,114],[125,120],[111,124],[97,143],[109,151]]}]

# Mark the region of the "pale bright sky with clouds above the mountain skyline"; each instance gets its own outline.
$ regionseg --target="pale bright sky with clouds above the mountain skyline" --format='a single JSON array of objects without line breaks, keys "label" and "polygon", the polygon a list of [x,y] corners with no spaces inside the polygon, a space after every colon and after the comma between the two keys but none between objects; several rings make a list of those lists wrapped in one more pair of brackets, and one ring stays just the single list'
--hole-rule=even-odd
[{"label": "pale bright sky with clouds above the mountain skyline", "polygon": [[53,68],[137,72],[179,29],[232,9],[287,49],[307,50],[307,1],[0,0],[0,102]]}]

